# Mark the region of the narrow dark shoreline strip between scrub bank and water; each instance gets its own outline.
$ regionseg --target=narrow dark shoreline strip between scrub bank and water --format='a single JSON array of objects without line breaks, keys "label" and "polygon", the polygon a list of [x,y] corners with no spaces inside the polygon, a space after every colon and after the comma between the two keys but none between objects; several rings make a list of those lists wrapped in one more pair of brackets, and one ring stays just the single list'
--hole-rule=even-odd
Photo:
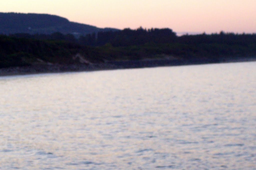
[{"label": "narrow dark shoreline strip between scrub bank and water", "polygon": [[237,63],[253,62],[256,56],[252,57],[232,57],[225,60],[178,60],[178,59],[152,59],[152,60],[128,60],[128,61],[110,61],[98,64],[52,64],[52,65],[31,65],[22,67],[0,68],[0,76],[16,76],[31,74],[47,74],[61,72],[82,72],[82,71],[100,71],[115,69],[132,69],[132,68],[150,68],[164,66],[183,66],[199,64],[217,64],[217,63]]}]

